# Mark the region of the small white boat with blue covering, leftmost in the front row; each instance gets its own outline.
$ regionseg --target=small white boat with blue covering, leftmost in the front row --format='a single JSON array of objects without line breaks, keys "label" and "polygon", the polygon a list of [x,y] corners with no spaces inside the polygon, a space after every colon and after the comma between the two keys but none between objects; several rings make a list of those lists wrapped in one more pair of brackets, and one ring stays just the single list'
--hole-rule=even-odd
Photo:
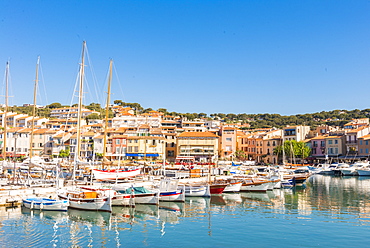
[{"label": "small white boat with blue covering, leftmost in the front row", "polygon": [[55,200],[49,198],[26,198],[22,200],[23,206],[29,209],[67,211],[68,200]]}]

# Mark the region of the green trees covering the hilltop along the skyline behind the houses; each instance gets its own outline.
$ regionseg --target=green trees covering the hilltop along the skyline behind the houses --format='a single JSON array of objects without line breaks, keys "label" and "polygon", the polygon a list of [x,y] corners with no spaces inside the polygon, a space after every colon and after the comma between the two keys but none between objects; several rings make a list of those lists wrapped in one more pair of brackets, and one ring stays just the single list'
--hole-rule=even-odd
[{"label": "green trees covering the hilltop along the skyline behind the houses", "polygon": [[[152,111],[152,108],[143,108],[139,103],[127,103],[122,100],[115,100],[114,104],[122,107],[130,107],[134,109],[135,113],[148,113]],[[52,103],[47,105],[45,108],[38,108],[36,114],[40,117],[49,117],[50,111],[54,108],[67,107],[60,103]],[[99,103],[90,103],[84,106],[87,109],[94,110],[100,113],[99,118],[104,118],[105,111]],[[24,113],[32,115],[32,106],[27,107],[9,107],[9,111],[17,113]],[[306,125],[315,128],[321,124],[329,126],[340,126],[348,123],[352,119],[358,118],[369,118],[370,109],[354,109],[354,110],[332,110],[332,111],[321,111],[312,114],[297,114],[297,115],[279,115],[279,114],[234,114],[234,113],[213,113],[207,115],[206,113],[178,113],[170,112],[165,108],[159,108],[156,111],[162,112],[165,115],[185,117],[188,120],[194,120],[197,118],[207,118],[209,120],[221,120],[226,123],[241,123],[249,124],[248,129],[256,128],[271,128],[277,127],[282,128],[287,125]],[[112,117],[112,112],[109,113]],[[97,117],[96,115],[90,116],[90,118]],[[246,127],[247,128],[247,127]]]}]

